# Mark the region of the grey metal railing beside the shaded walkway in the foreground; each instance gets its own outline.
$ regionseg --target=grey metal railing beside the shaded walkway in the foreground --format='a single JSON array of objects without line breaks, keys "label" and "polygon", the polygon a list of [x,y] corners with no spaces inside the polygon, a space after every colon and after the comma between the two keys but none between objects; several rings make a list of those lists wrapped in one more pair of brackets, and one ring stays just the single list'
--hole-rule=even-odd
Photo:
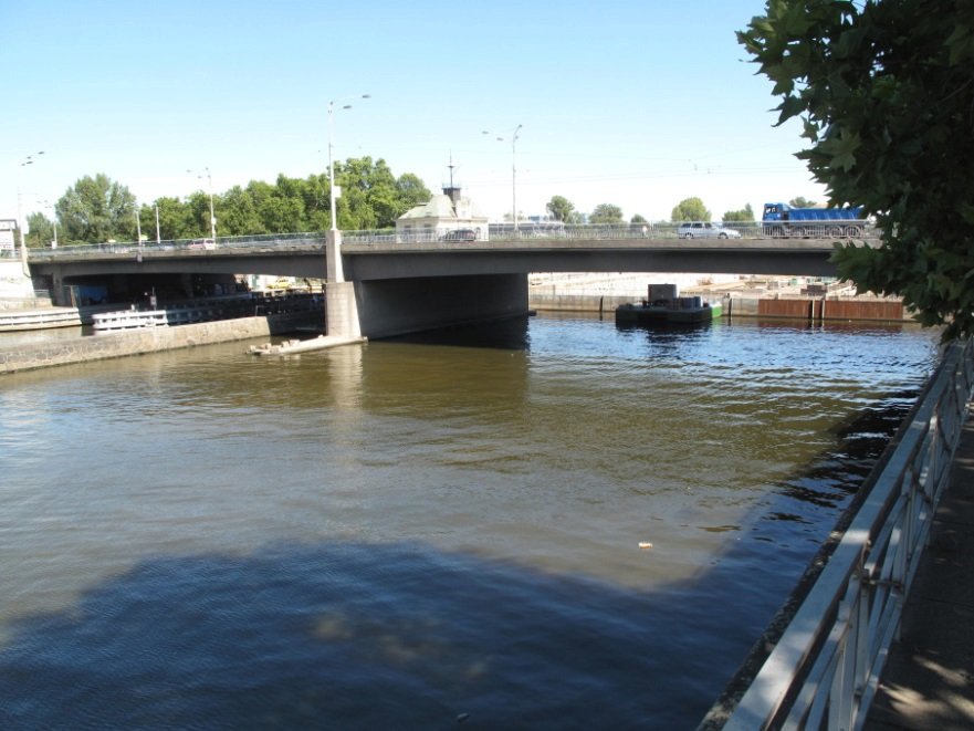
[{"label": "grey metal railing beside the shaded walkway in the foreground", "polygon": [[865,723],[960,441],[974,389],[972,343],[947,349],[835,552],[723,729]]}]

